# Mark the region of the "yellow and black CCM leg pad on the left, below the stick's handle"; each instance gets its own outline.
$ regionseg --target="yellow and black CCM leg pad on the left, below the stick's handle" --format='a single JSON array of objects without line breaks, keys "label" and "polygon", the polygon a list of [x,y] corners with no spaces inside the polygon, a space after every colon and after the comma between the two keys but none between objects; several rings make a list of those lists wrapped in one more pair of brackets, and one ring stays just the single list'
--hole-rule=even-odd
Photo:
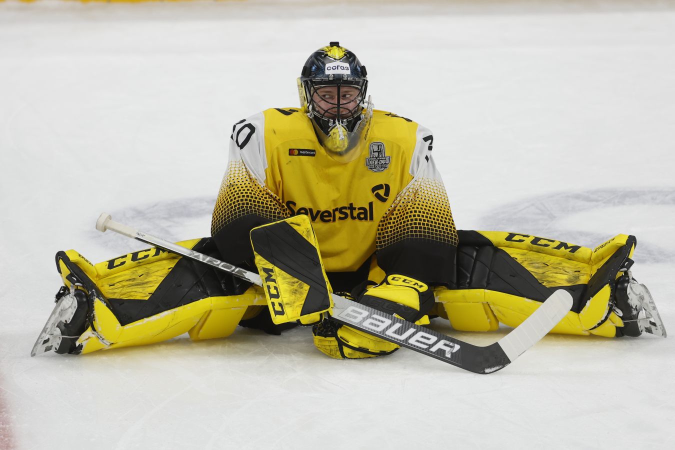
[{"label": "yellow and black CCM leg pad on the left, below the stick's handle", "polygon": [[[205,252],[210,240],[180,243]],[[88,322],[77,339],[82,354],[144,345],[189,333],[193,340],[226,337],[247,308],[265,305],[257,287],[209,267],[151,248],[91,264],[74,250],[57,254],[65,289],[82,285]]]}]

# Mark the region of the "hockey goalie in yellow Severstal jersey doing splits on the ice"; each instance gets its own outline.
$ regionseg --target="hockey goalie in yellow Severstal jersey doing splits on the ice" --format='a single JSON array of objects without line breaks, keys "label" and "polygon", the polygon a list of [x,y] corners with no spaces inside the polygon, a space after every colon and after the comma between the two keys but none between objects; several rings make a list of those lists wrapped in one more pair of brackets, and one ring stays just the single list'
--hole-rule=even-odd
[{"label": "hockey goalie in yellow Severstal jersey doing splits on the ice", "polygon": [[[528,233],[456,230],[433,135],[373,109],[367,88],[366,67],[339,43],[312,53],[298,78],[300,107],[234,125],[211,237],[179,244],[264,279],[269,258],[252,246],[251,231],[304,216],[333,292],[417,325],[436,318],[462,331],[517,327],[564,289],[573,304],[553,333],[666,336],[649,291],[632,278],[635,237],[620,234],[591,249]],[[398,348],[336,322],[330,308],[303,314],[300,304],[273,320],[274,292],[161,248],[99,264],[68,250],[56,264],[63,287],[33,355],[87,354],[183,333],[227,337],[238,325],[278,335],[298,322],[333,358]],[[294,289],[293,279],[277,283]]]}]

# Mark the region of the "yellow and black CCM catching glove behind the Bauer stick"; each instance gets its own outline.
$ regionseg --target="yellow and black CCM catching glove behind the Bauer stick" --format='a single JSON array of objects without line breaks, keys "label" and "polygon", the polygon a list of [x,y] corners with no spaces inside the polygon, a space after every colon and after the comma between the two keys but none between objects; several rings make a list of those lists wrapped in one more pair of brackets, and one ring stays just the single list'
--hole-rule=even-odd
[{"label": "yellow and black CCM catching glove behind the Bauer stick", "polygon": [[[357,288],[358,290],[358,288]],[[371,285],[354,299],[360,304],[398,316],[417,325],[427,325],[427,312],[434,305],[433,290],[425,283],[404,275],[387,275],[379,285]],[[391,354],[398,345],[339,324],[323,320],[312,329],[314,345],[332,358],[371,358]]]}]

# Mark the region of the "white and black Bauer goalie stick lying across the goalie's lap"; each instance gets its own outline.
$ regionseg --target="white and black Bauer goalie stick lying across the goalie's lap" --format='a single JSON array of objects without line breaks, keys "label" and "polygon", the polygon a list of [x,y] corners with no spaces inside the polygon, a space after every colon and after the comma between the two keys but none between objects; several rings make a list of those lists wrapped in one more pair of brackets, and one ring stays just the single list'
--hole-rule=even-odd
[{"label": "white and black Bauer goalie stick lying across the goalie's lap", "polygon": [[[109,214],[101,214],[96,223],[96,229],[101,232],[115,231],[115,233],[131,237],[151,246],[209,264],[250,283],[263,285],[262,279],[257,273],[246,271],[238,266],[163,240],[161,237],[149,235],[117,223],[111,219]],[[283,258],[283,256],[281,257]],[[478,374],[489,374],[508,366],[520,354],[535,345],[551,331],[572,306],[572,296],[559,289],[508,335],[491,345],[483,347],[415,325],[413,322],[358,304],[335,293],[331,293],[331,297],[334,306],[330,317],[336,322],[365,331],[371,335],[377,335],[402,347]]]}]

